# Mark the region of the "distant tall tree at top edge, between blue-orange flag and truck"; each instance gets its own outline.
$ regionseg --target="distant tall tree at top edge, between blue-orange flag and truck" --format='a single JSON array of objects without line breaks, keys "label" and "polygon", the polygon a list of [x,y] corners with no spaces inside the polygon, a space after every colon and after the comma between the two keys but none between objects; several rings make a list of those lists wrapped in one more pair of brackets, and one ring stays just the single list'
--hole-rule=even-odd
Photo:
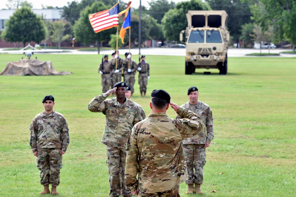
[{"label": "distant tall tree at top edge, between blue-orange flag and truck", "polygon": [[175,8],[175,3],[173,1],[169,3],[168,0],[151,0],[148,5],[150,8],[147,13],[155,18],[159,24],[165,13]]}]

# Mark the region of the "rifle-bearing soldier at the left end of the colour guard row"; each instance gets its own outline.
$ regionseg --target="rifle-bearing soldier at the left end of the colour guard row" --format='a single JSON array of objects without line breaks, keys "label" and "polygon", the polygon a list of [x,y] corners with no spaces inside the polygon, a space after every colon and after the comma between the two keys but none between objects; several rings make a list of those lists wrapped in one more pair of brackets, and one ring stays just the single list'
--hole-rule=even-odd
[{"label": "rifle-bearing soldier at the left end of the colour guard row", "polygon": [[112,66],[111,62],[108,61],[108,55],[104,55],[104,61],[99,66],[99,74],[101,74],[102,91],[107,92],[112,86]]}]

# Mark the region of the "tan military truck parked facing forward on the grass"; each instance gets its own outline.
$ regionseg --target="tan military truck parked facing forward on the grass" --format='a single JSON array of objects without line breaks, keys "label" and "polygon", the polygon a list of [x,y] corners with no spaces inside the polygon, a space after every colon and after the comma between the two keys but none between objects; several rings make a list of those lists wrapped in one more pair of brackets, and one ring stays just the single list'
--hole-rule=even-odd
[{"label": "tan military truck parked facing forward on the grass", "polygon": [[225,10],[189,10],[186,14],[188,27],[180,33],[183,42],[185,33],[185,74],[195,69],[219,69],[227,74],[227,49],[229,31],[226,30],[228,14]]}]

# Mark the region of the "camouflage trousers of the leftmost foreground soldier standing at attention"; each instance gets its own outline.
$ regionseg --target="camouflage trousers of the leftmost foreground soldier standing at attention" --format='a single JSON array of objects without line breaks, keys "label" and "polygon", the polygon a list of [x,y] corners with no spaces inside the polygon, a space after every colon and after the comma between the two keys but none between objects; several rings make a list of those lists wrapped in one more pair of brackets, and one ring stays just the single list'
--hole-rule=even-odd
[{"label": "camouflage trousers of the leftmost foreground soldier standing at attention", "polygon": [[59,172],[62,168],[62,155],[59,154],[61,148],[37,149],[38,157],[36,164],[40,170],[41,185],[59,185]]}]

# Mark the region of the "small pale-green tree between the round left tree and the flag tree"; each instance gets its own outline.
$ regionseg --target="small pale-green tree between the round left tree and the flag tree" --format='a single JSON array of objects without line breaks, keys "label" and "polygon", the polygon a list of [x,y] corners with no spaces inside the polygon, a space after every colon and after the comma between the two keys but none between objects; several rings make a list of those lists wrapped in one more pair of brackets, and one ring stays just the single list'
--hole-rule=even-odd
[{"label": "small pale-green tree between the round left tree and the flag tree", "polygon": [[70,22],[67,21],[55,21],[52,23],[52,35],[50,38],[58,44],[59,49],[61,49],[61,42],[71,37],[70,34],[66,34],[67,30],[71,28]]}]

